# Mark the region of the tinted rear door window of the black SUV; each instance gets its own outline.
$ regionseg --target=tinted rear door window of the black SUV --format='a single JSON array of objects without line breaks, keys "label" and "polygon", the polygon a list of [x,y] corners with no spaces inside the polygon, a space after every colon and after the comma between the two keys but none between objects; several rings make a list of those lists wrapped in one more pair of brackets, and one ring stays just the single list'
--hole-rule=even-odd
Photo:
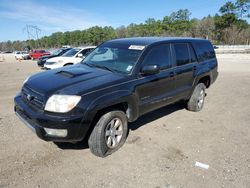
[{"label": "tinted rear door window of the black SUV", "polygon": [[185,65],[190,62],[189,45],[185,43],[174,44],[174,51],[177,66]]}]

